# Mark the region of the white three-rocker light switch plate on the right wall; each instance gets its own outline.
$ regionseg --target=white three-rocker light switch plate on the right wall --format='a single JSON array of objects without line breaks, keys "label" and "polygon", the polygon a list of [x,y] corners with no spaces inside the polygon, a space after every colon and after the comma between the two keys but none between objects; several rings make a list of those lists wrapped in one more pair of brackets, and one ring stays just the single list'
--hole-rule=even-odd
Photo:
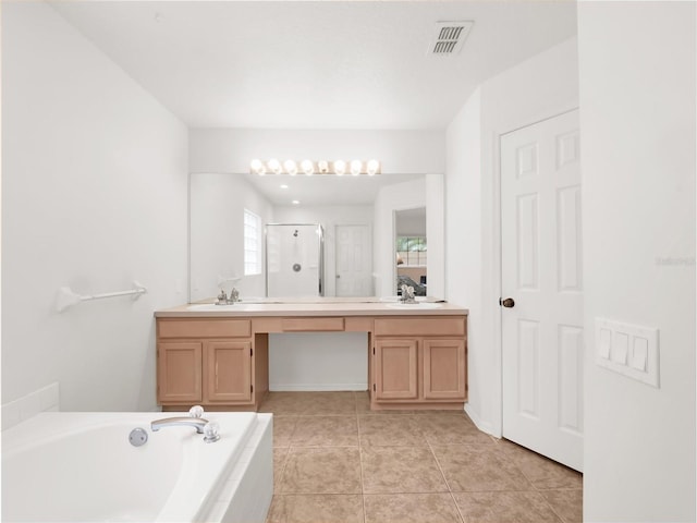
[{"label": "white three-rocker light switch plate on the right wall", "polygon": [[659,387],[658,329],[596,318],[596,363]]}]

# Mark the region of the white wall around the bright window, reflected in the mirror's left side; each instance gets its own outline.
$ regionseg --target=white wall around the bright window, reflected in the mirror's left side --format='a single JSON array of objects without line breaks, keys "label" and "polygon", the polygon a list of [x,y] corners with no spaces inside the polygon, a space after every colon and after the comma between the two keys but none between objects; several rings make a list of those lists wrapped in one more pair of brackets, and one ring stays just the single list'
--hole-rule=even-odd
[{"label": "white wall around the bright window, reflected in the mirror's left side", "polygon": [[[224,173],[193,173],[189,181],[189,275],[191,301],[215,297],[232,287],[240,297],[265,296],[265,264],[260,275],[244,276],[244,209],[274,221],[273,207],[244,177]],[[242,278],[222,285],[218,277]]]}]

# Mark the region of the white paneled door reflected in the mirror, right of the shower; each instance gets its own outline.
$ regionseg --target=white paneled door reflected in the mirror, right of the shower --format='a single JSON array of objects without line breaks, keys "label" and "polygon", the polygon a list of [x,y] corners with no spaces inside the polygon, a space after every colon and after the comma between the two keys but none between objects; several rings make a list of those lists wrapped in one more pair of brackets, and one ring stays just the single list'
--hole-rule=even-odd
[{"label": "white paneled door reflected in the mirror, right of the shower", "polygon": [[372,295],[369,226],[337,226],[337,295]]}]

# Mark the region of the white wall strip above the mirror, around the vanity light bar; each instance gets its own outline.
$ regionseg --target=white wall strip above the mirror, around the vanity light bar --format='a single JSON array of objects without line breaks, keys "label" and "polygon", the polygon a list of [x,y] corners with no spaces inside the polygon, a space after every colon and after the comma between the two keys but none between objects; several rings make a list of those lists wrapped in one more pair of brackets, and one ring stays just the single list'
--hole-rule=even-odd
[{"label": "white wall strip above the mirror, around the vanity light bar", "polygon": [[249,172],[253,158],[377,158],[383,173],[443,172],[443,131],[192,129],[191,172]]}]

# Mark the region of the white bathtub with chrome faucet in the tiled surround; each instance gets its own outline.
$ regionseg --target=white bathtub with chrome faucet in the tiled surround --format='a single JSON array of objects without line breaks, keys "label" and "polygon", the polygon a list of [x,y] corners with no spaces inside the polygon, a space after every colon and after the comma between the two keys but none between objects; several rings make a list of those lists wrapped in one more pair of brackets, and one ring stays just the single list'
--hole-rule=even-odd
[{"label": "white bathtub with chrome faucet in the tiled surround", "polygon": [[[178,413],[41,413],[2,433],[2,521],[260,522],[272,417],[206,413],[221,439],[150,422]],[[148,441],[133,447],[133,428]]]}]

